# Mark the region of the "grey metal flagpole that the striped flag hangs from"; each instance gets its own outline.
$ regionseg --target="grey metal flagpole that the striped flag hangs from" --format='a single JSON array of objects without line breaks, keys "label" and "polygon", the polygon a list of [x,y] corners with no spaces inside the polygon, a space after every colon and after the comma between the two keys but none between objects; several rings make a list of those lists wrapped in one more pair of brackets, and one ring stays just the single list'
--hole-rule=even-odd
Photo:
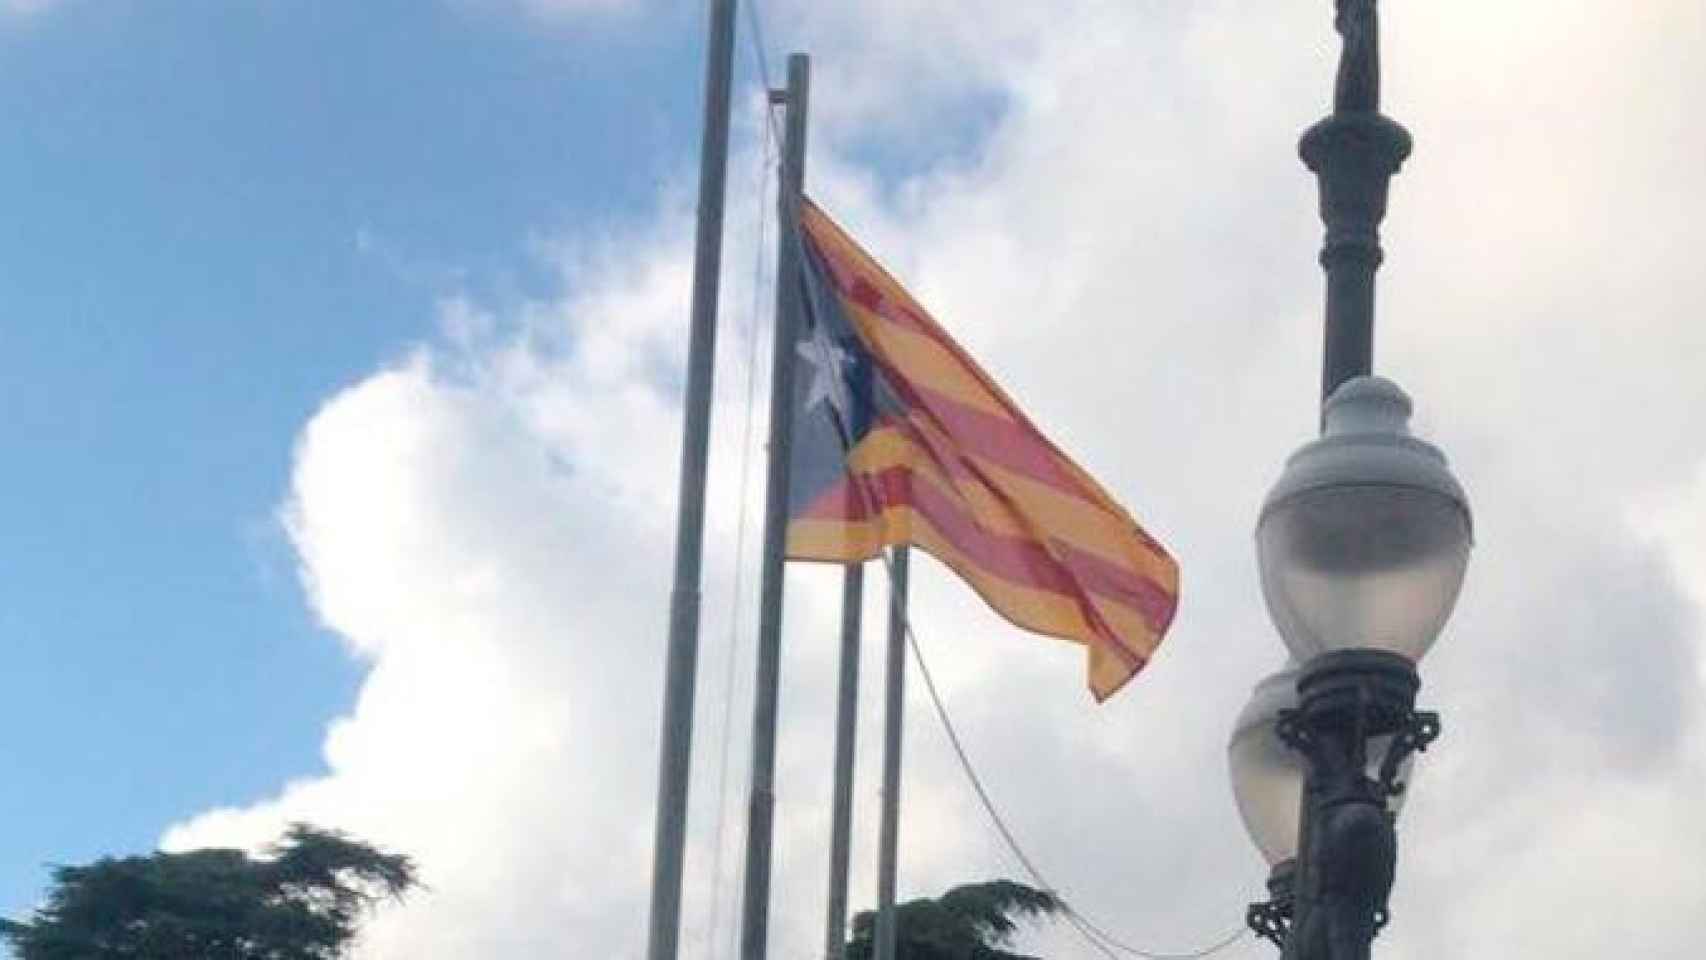
[{"label": "grey metal flagpole that the striped flag hangs from", "polygon": [[776,230],[776,343],[769,375],[769,472],[764,481],[764,561],[757,616],[757,680],[752,689],[752,784],[747,808],[746,892],[740,958],[764,960],[769,941],[769,841],[776,813],[776,694],[781,674],[781,576],[788,532],[788,459],[793,450],[795,329],[800,322],[800,196],[805,189],[805,111],[810,60],[788,58],[783,94],[788,123],[781,145]]}]

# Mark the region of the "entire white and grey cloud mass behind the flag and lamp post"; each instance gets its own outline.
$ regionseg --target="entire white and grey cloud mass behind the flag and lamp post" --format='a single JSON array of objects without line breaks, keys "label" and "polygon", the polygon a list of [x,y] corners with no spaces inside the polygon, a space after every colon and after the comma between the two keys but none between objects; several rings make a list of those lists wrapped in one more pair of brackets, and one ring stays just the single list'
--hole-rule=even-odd
[{"label": "entire white and grey cloud mass behind the flag and lamp post", "polygon": [[[1331,84],[1322,7],[769,5],[773,36],[812,38],[821,65],[812,191],[1184,561],[1172,638],[1104,708],[1080,651],[1015,634],[930,563],[916,588],[991,793],[1044,871],[1140,945],[1232,928],[1262,880],[1221,749],[1283,660],[1249,532],[1314,425],[1320,227],[1291,150]],[[1706,147],[1689,123],[1703,17],[1694,0],[1387,10],[1389,113],[1418,153],[1394,191],[1377,363],[1454,457],[1479,539],[1425,667],[1447,735],[1404,813],[1392,957],[1684,957],[1706,909],[1706,285],[1689,242],[1706,174],[1687,162]],[[960,116],[983,119],[942,119]],[[899,172],[863,162],[933,136],[940,162],[923,147]],[[757,493],[740,454],[761,457],[740,416],[751,203],[732,220],[718,379],[693,957],[727,955],[737,873],[734,830],[715,849],[715,784],[727,641],[751,633],[730,602]],[[543,249],[556,298],[447,302],[440,341],[307,426],[285,523],[310,604],[370,675],[328,732],[326,776],[167,837],[258,842],[314,818],[416,853],[433,888],[377,921],[367,957],[641,950],[688,203],[672,193],[607,234]],[[788,958],[822,936],[834,585],[790,578],[773,914]],[[909,692],[902,888],[1013,875]],[[1087,955],[1061,931],[1030,945]]]}]

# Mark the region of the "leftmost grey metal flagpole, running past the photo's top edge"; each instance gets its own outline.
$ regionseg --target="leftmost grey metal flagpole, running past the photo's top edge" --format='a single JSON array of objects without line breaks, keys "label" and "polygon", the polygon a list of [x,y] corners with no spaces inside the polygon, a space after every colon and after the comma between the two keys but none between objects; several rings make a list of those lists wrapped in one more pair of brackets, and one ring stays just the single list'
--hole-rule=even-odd
[{"label": "leftmost grey metal flagpole, running past the photo's top edge", "polygon": [[681,868],[688,842],[693,772],[693,692],[699,668],[699,561],[705,554],[705,472],[711,433],[711,363],[723,266],[723,191],[728,182],[728,89],[734,75],[735,0],[711,0],[705,56],[705,130],[699,143],[699,222],[693,254],[693,326],[688,334],[686,425],[676,513],[676,587],[669,595],[669,663],[659,745],[657,825],[652,842],[648,960],[676,960],[681,940]]}]

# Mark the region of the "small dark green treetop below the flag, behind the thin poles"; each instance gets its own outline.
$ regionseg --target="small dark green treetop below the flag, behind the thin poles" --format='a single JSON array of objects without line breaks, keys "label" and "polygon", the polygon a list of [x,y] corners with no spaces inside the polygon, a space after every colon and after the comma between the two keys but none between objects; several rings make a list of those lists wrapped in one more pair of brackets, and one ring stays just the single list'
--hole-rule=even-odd
[{"label": "small dark green treetop below the flag, behind the thin poles", "polygon": [[[966,883],[937,899],[896,904],[896,960],[1039,960],[1003,950],[1020,919],[1047,917],[1061,902],[1047,890],[1012,880]],[[853,917],[846,960],[877,955],[877,914]]]}]

